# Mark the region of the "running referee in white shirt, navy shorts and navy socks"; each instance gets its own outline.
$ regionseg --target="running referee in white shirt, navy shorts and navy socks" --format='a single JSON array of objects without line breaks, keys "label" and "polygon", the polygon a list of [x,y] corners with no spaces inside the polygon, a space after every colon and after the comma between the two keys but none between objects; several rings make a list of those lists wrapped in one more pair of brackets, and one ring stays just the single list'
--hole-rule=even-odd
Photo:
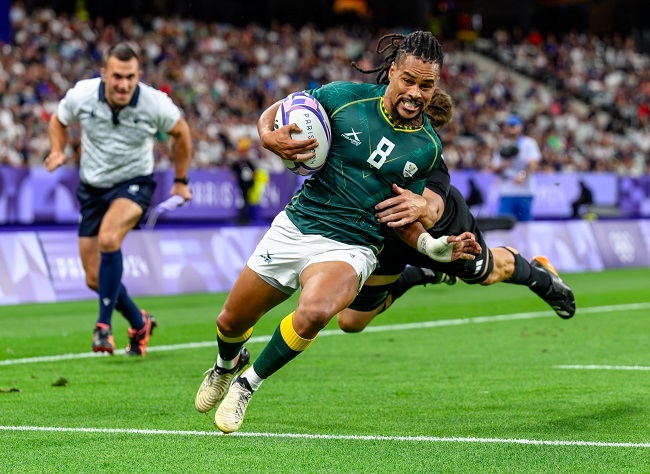
[{"label": "running referee in white shirt, navy shorts and navy socks", "polygon": [[66,161],[67,127],[81,124],[81,205],[79,252],[86,284],[99,293],[99,317],[93,332],[95,352],[113,353],[111,315],[117,309],[129,321],[127,354],[144,356],[155,319],[140,310],[122,284],[122,241],[136,227],[156,187],[153,180],[154,137],[174,140],[176,178],[172,195],[191,199],[187,169],[192,143],[181,111],[163,92],[140,82],[136,52],[126,43],[110,47],[101,78],[79,81],[59,102],[50,120],[53,171]]}]

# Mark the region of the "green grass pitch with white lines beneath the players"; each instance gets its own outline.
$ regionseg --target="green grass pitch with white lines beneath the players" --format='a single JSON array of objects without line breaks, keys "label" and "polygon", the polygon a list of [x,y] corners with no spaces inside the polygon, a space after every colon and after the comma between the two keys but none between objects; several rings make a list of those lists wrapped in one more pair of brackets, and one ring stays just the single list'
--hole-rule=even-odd
[{"label": "green grass pitch with white lines beneath the players", "polygon": [[[194,409],[224,294],[137,298],[160,324],[144,359],[85,357],[96,301],[0,307],[0,472],[648,473],[650,269],[565,280],[568,321],[527,288],[459,283],[361,334],[333,322],[228,436]],[[119,348],[126,330],[116,314]]]}]

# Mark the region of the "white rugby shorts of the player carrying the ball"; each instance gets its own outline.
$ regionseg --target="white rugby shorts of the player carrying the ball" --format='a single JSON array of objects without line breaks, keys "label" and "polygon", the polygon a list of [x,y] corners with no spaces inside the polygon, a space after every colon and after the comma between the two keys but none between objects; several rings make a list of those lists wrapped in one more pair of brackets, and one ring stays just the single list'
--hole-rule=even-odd
[{"label": "white rugby shorts of the player carrying the ball", "polygon": [[280,212],[248,259],[247,265],[275,288],[293,294],[300,288],[300,274],[312,263],[347,262],[359,276],[359,287],[377,266],[369,247],[349,245],[322,235],[305,235]]}]

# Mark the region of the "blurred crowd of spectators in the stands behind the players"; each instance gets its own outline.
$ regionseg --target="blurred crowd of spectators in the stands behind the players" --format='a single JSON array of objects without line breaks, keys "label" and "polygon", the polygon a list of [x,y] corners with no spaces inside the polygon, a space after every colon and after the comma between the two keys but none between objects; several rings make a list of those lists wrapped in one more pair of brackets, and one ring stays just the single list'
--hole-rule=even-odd
[{"label": "blurred crowd of spectators in the stands behind the players", "polygon": [[[181,18],[113,25],[49,9],[28,14],[19,1],[10,21],[14,40],[0,44],[0,164],[13,166],[42,164],[59,99],[76,81],[97,76],[102,52],[125,40],[141,52],[143,81],[183,109],[195,168],[246,162],[282,170],[281,160],[259,145],[261,111],[290,92],[333,80],[373,82],[350,62],[378,65],[377,39],[388,33]],[[450,169],[490,169],[502,124],[517,113],[540,144],[542,170],[650,173],[650,59],[629,40],[497,32],[469,51],[442,39],[440,86],[455,102],[453,121],[441,131]],[[73,165],[78,138],[73,130],[67,150]],[[170,166],[168,142],[157,145],[157,169]]]}]

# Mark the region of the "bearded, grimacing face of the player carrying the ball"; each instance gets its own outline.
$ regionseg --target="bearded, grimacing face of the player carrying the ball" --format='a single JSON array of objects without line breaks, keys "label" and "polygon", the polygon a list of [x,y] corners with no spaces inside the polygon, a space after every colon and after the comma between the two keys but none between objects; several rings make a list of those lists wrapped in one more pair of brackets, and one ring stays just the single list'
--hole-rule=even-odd
[{"label": "bearded, grimacing face of the player carrying the ball", "polygon": [[422,112],[440,79],[440,65],[407,56],[401,64],[393,63],[388,79],[384,105],[393,120],[401,125],[422,125]]}]

